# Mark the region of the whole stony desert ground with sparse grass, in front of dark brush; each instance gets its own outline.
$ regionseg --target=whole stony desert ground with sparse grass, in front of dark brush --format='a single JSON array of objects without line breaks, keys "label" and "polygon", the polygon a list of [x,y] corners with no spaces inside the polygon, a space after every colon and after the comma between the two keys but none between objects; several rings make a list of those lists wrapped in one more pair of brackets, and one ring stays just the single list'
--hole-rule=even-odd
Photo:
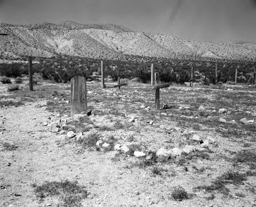
[{"label": "whole stony desert ground with sparse grass, in front of dark brush", "polygon": [[[14,79],[12,79],[14,83]],[[256,206],[256,90],[0,83],[0,206]],[[166,105],[167,104],[167,105]]]}]

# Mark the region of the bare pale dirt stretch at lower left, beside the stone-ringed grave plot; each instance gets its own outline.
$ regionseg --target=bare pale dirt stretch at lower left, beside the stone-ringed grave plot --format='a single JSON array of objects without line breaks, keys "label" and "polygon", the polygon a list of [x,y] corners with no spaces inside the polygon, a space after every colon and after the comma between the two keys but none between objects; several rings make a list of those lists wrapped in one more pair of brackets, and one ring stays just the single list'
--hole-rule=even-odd
[{"label": "bare pale dirt stretch at lower left, beside the stone-ringed grave plot", "polygon": [[[138,168],[123,168],[127,163],[113,162],[113,152],[78,154],[74,145],[59,148],[58,135],[40,124],[51,113],[36,107],[38,104],[44,102],[1,108],[0,123],[4,120],[6,131],[0,134],[0,141],[13,143],[18,149],[0,151],[0,186],[5,187],[0,189],[0,206],[59,206],[54,198],[38,201],[31,185],[64,179],[78,180],[87,187],[90,196],[82,201],[83,206],[242,206],[234,199],[207,201],[201,192],[191,200],[173,201],[168,195],[174,186],[186,188],[197,178],[180,172],[163,180]],[[174,170],[177,173],[178,169]]]}]

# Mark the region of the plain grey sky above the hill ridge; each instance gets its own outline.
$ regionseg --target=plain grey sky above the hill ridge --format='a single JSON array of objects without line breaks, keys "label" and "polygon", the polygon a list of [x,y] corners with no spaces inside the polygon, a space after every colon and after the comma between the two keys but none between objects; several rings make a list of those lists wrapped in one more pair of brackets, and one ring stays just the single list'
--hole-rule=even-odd
[{"label": "plain grey sky above the hill ridge", "polygon": [[190,40],[256,41],[256,0],[0,0],[0,22],[65,20]]}]

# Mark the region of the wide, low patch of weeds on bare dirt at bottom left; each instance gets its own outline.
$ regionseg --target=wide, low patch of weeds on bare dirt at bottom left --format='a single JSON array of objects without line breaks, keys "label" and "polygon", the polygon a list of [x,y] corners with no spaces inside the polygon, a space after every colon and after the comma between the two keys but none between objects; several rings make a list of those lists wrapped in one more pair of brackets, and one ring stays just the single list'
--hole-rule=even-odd
[{"label": "wide, low patch of weeds on bare dirt at bottom left", "polygon": [[36,197],[58,196],[65,206],[81,206],[81,200],[88,197],[88,191],[84,186],[79,186],[77,181],[52,181],[40,186],[32,185]]}]

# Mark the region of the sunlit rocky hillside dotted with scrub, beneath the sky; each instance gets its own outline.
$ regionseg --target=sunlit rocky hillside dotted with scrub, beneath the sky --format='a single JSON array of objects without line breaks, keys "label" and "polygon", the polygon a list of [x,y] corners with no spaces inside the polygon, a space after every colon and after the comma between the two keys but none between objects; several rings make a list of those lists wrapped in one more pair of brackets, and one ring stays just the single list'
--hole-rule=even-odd
[{"label": "sunlit rocky hillside dotted with scrub, beneath the sky", "polygon": [[31,55],[123,59],[156,58],[255,60],[255,42],[199,42],[163,34],[133,32],[118,25],[82,25],[73,21],[35,25],[0,24],[0,57]]}]

